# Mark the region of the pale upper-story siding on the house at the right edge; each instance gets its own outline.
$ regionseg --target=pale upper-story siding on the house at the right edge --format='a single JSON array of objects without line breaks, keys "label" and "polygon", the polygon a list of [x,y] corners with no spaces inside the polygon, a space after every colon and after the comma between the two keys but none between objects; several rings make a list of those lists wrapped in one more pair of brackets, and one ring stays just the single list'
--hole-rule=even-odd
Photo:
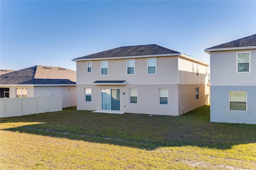
[{"label": "pale upper-story siding on the house at the right edge", "polygon": [[211,86],[255,86],[256,50],[240,51],[251,51],[251,73],[236,73],[236,51],[211,52]]}]

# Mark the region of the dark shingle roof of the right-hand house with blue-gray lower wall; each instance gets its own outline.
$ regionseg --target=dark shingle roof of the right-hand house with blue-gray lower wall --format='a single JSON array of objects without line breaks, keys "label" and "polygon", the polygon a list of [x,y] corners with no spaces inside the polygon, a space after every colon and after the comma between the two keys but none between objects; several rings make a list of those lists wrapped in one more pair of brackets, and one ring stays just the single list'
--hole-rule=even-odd
[{"label": "dark shingle roof of the right-hand house with blue-gray lower wall", "polygon": [[[222,49],[222,48],[234,48],[234,47],[252,47],[256,46],[256,34],[250,35],[248,37],[244,37],[241,39],[237,39],[235,41],[231,41],[228,43],[224,43],[221,45],[216,45],[214,47],[210,47],[208,49]],[[207,51],[207,49],[205,49]]]}]

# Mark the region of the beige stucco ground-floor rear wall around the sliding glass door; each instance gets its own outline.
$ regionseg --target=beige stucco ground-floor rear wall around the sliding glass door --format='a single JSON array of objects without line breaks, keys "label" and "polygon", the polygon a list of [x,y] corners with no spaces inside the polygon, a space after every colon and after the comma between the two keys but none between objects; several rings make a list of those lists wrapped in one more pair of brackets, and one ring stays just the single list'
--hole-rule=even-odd
[{"label": "beige stucco ground-floor rear wall around the sliding glass door", "polygon": [[[92,88],[92,102],[85,102],[84,88]],[[178,115],[178,85],[77,85],[77,109],[101,111],[102,88],[120,89],[121,112]],[[130,88],[138,89],[137,104],[130,104]],[[168,88],[168,105],[159,104],[159,88]]]}]

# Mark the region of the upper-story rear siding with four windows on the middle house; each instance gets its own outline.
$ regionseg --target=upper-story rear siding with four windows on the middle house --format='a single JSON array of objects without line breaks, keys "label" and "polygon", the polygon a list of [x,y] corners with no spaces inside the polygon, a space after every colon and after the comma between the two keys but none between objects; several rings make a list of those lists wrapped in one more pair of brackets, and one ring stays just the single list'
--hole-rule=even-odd
[{"label": "upper-story rear siding with four windows on the middle house", "polygon": [[108,60],[108,75],[100,75],[100,61],[92,61],[92,73],[86,73],[86,61],[77,61],[77,84],[96,80],[126,80],[127,84],[177,84],[177,57],[157,57],[157,74],[147,74],[147,59],[135,59],[135,75],[126,74],[126,59]]}]

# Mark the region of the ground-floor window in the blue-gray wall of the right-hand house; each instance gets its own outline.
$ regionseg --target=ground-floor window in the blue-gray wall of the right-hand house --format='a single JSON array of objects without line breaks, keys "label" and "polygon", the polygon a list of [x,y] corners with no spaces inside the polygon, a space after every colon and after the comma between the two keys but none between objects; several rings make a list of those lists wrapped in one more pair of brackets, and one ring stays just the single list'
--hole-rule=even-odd
[{"label": "ground-floor window in the blue-gray wall of the right-hand house", "polygon": [[229,92],[229,110],[247,111],[247,92]]}]

